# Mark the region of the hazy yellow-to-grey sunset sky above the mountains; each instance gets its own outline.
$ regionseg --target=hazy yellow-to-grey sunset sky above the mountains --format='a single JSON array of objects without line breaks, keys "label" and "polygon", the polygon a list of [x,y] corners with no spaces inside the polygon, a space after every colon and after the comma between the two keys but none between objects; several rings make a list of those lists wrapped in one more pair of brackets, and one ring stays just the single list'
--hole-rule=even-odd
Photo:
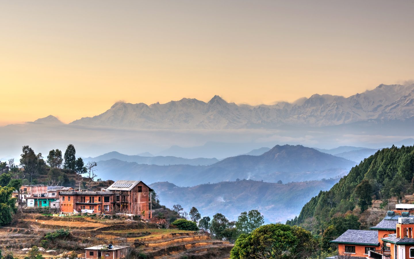
[{"label": "hazy yellow-to-grey sunset sky above the mountains", "polygon": [[271,104],[414,77],[413,0],[2,1],[0,125],[118,101]]}]

